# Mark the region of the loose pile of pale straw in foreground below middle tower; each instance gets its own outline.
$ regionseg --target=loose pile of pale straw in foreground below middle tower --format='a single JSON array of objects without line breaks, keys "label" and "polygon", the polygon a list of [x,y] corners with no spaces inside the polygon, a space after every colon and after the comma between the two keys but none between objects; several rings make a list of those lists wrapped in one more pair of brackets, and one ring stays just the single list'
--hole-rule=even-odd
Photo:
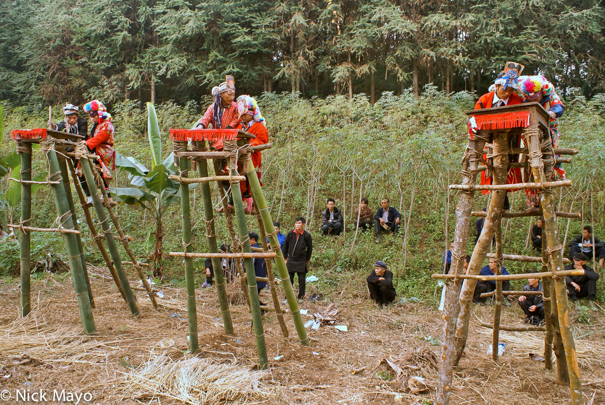
[{"label": "loose pile of pale straw in foreground below middle tower", "polygon": [[172,360],[166,352],[154,354],[138,369],[125,374],[123,397],[150,402],[165,397],[186,404],[244,404],[275,397],[276,389],[263,383],[263,371],[208,358]]}]

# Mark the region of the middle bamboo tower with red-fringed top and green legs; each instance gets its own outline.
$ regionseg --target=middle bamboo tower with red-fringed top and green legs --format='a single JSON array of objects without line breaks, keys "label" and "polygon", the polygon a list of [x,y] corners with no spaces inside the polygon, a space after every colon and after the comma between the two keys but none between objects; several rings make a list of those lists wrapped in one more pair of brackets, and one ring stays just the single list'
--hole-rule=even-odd
[{"label": "middle bamboo tower with red-fringed top and green legs", "polygon": [[[241,130],[170,130],[175,166],[178,166],[178,174],[171,176],[171,179],[180,183],[184,249],[182,252],[170,252],[169,255],[182,257],[185,263],[189,346],[192,353],[197,352],[199,349],[193,260],[194,258],[208,257],[212,260],[218,301],[223,317],[224,332],[230,335],[234,334],[234,329],[231,312],[229,311],[229,300],[226,294],[226,280],[221,270],[221,259],[235,260],[238,273],[241,277],[242,292],[252,315],[252,326],[258,351],[258,368],[267,369],[269,363],[267,360],[261,311],[275,312],[283,335],[285,337],[288,336],[288,329],[283,318],[284,311],[280,307],[280,301],[276,292],[276,277],[279,277],[281,280],[281,287],[286,294],[287,304],[290,308],[300,343],[309,345],[309,337],[307,337],[307,331],[302,323],[298,301],[290,283],[286,262],[284,262],[281,246],[273,228],[273,221],[269,214],[269,208],[267,208],[263,191],[261,190],[260,180],[250,159],[250,153],[270,148],[271,145],[250,147],[250,139],[253,138],[255,138],[253,134]],[[223,150],[209,150],[212,149],[209,147],[211,141],[220,139],[224,143]],[[191,147],[189,147],[188,142],[191,142]],[[215,174],[213,176],[209,175],[209,160],[214,167]],[[189,177],[190,168],[194,166],[197,166],[197,176]],[[263,246],[261,249],[252,248],[248,238],[246,212],[240,189],[240,181],[244,180],[247,180],[249,184],[254,206],[254,211],[248,212],[248,214],[257,217],[260,231],[258,232],[260,240],[257,242]],[[218,211],[224,214],[227,229],[231,236],[232,252],[218,251],[215,229],[215,211],[217,209],[212,205],[211,182],[218,182],[218,191],[221,197],[221,208]],[[228,191],[225,191],[222,186],[224,182],[228,182],[229,184]],[[191,209],[189,206],[189,184],[191,183],[200,183],[204,206],[203,222],[206,224],[205,234],[209,253],[194,252],[194,246],[192,245]],[[227,203],[229,197],[227,194],[229,193],[231,193],[233,199],[232,207],[229,207]],[[267,238],[269,239],[269,243],[267,243]],[[265,261],[267,277],[256,277],[253,264],[253,259],[255,258]],[[245,275],[242,262],[247,270]],[[275,274],[275,268],[277,269],[277,274]],[[258,299],[257,281],[268,283],[273,300],[272,307],[261,306]]]}]

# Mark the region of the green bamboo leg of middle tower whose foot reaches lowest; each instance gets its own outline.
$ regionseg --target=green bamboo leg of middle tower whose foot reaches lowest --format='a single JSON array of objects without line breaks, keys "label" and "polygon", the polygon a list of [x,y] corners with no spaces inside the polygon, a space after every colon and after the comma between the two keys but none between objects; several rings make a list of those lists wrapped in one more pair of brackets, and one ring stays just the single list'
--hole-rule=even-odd
[{"label": "green bamboo leg of middle tower whose foot reaches lowest", "polygon": [[[235,169],[235,159],[229,163],[231,174],[237,176]],[[258,179],[257,179],[258,180]],[[244,240],[243,252],[251,253],[250,240],[248,240],[248,228],[246,226],[246,214],[244,214],[244,202],[241,199],[240,182],[231,182],[231,195],[233,196],[233,205],[235,207],[235,220],[237,221],[237,229],[240,233],[240,240]],[[258,369],[266,370],[269,366],[267,361],[267,346],[264,340],[263,332],[263,315],[261,314],[260,301],[258,301],[257,276],[254,273],[254,261],[252,258],[244,258],[246,264],[246,278],[248,281],[248,295],[250,296],[250,312],[252,312],[252,324],[254,326],[254,334],[257,340],[258,350]]]}]

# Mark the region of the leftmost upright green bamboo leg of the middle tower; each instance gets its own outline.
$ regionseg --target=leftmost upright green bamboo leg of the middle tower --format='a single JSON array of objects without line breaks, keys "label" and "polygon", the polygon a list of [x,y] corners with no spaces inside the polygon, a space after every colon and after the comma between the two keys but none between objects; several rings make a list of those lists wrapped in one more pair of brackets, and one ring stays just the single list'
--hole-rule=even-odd
[{"label": "leftmost upright green bamboo leg of the middle tower", "polygon": [[[187,142],[173,142],[174,150],[187,150]],[[189,160],[178,159],[179,175],[189,177]],[[193,252],[191,245],[191,211],[189,209],[189,185],[180,183],[181,218],[183,219],[183,245],[185,252]],[[185,283],[187,288],[187,318],[189,320],[189,347],[192,353],[199,350],[197,339],[197,309],[195,308],[195,277],[193,258],[185,257]]]}]

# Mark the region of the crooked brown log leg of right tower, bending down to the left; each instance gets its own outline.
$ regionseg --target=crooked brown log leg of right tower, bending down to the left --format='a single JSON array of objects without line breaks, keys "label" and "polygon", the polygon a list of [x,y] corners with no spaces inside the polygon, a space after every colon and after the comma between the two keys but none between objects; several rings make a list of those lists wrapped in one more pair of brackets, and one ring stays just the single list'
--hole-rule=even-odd
[{"label": "crooked brown log leg of right tower, bending down to the left", "polygon": [[[506,173],[508,173],[508,154],[505,151],[508,148],[508,133],[494,133],[493,139],[494,157],[492,158],[494,170],[492,173],[492,184],[495,187],[504,186],[502,190],[495,190],[491,193],[491,202],[488,207],[488,215],[483,222],[483,231],[473,250],[471,262],[468,265],[468,274],[479,274],[483,266],[483,260],[491,245],[494,237],[495,226],[500,223],[502,216],[502,206],[506,196]],[[459,276],[460,277],[460,276]],[[499,276],[502,277],[502,276]],[[472,277],[471,277],[472,278]],[[464,283],[462,289],[462,299],[460,300],[460,314],[456,323],[456,358],[454,364],[458,364],[462,357],[462,352],[466,346],[468,337],[468,324],[470,320],[471,301],[477,282],[468,280]]]}]

